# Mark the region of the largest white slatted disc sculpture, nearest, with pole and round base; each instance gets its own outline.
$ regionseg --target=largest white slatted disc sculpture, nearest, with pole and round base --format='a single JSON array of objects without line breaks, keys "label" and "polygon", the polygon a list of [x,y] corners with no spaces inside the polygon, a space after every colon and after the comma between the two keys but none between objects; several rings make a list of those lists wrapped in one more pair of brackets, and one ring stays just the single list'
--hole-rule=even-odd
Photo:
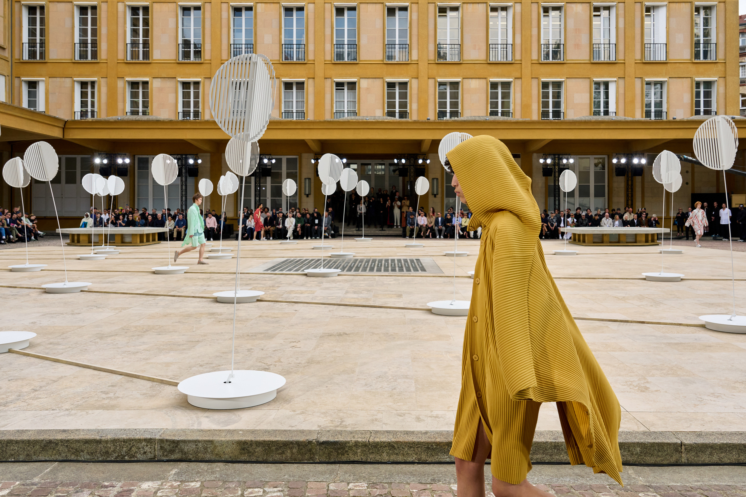
[{"label": "largest white slatted disc sculpture, nearest, with pole and round base", "polygon": [[[233,57],[223,64],[210,85],[210,110],[218,125],[231,136],[239,139],[244,157],[241,167],[228,167],[243,177],[254,172],[251,149],[266,130],[269,116],[275,107],[275,69],[263,55],[245,54]],[[228,148],[235,145],[228,142]],[[226,161],[228,161],[226,148]],[[259,145],[257,144],[257,152]],[[222,190],[222,188],[221,188]],[[231,370],[204,373],[185,379],[178,384],[181,393],[186,394],[189,404],[207,409],[248,408],[264,404],[277,396],[278,388],[285,379],[275,373],[255,370],[236,370],[236,306],[239,302],[239,268],[241,261],[241,226],[243,224],[243,193],[239,197],[239,242],[236,257],[236,283],[231,300],[233,301],[233,346],[231,347]],[[221,292],[222,293],[222,292]],[[220,298],[220,297],[219,297]],[[254,299],[255,300],[255,299]]]}]

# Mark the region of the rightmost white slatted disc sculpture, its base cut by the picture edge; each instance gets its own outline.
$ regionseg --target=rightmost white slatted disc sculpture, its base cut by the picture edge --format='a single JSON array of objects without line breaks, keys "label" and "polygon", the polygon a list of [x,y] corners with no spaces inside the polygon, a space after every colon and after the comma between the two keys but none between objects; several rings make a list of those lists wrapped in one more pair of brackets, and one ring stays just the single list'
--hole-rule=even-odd
[{"label": "rightmost white slatted disc sculpture, its base cut by the picture edge", "polygon": [[[736,124],[725,115],[715,115],[704,121],[695,133],[695,156],[707,168],[723,171],[723,186],[727,189],[725,171],[733,167],[736,151],[739,148],[739,134]],[[725,195],[725,208],[728,196]],[[736,314],[736,268],[733,265],[733,233],[728,225],[728,240],[730,240],[730,272],[733,282],[733,312],[728,314],[709,314],[700,316],[705,326],[718,332],[746,333],[746,316]]]}]

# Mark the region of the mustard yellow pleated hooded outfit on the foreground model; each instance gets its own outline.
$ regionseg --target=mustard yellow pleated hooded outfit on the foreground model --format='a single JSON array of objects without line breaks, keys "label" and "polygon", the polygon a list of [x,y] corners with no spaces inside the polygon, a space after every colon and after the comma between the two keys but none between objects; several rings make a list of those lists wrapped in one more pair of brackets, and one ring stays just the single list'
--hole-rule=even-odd
[{"label": "mustard yellow pleated hooded outfit on the foreground model", "polygon": [[531,180],[492,136],[468,139],[448,160],[469,229],[483,230],[451,455],[471,460],[482,420],[492,475],[518,484],[531,469],[539,406],[557,402],[570,462],[621,484],[621,408],[547,268]]}]

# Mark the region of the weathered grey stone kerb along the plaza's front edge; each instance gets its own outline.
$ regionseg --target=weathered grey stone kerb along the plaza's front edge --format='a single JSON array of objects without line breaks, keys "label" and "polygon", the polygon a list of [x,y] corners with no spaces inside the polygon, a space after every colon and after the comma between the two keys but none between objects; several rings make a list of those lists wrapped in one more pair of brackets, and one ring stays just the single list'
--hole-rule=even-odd
[{"label": "weathered grey stone kerb along the plaza's front edge", "polygon": [[[448,463],[451,431],[0,430],[0,461],[236,460]],[[620,431],[625,464],[746,463],[746,432]],[[567,463],[562,431],[536,431],[535,463]]]}]

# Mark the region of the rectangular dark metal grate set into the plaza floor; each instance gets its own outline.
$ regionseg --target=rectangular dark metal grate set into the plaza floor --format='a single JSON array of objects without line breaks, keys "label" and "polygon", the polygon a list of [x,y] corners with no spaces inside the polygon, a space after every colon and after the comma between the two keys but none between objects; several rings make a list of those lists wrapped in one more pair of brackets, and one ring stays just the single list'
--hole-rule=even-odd
[{"label": "rectangular dark metal grate set into the plaza floor", "polygon": [[[279,259],[260,270],[273,273],[301,273],[307,269],[321,268],[318,257]],[[324,258],[324,267],[339,269],[342,273],[442,273],[430,257],[360,257],[353,259]]]}]

